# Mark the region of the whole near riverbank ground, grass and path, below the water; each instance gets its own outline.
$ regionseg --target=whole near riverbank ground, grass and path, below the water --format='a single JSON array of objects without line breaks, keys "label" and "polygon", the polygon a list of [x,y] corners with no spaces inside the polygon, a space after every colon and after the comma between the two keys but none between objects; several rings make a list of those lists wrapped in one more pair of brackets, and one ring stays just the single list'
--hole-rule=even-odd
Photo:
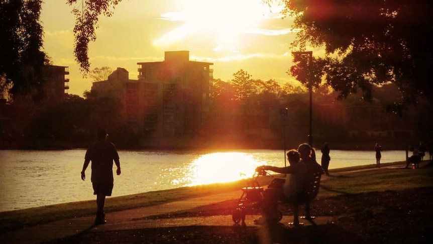
[{"label": "whole near riverbank ground, grass and path, below the water", "polygon": [[[299,228],[291,228],[282,223],[283,225],[268,229],[268,237],[282,238],[289,243],[304,243],[300,240],[307,237],[316,238],[309,239],[310,242],[315,240],[311,243],[427,243],[431,240],[429,231],[433,227],[430,223],[433,167],[427,167],[426,161],[420,166],[417,170],[402,169],[402,162],[398,162],[383,165],[380,169],[364,166],[331,171],[331,176],[322,177],[319,195],[312,204],[317,219],[328,219],[330,222]],[[261,180],[261,184],[266,185],[271,179]],[[67,238],[51,240],[52,243],[264,243],[261,241],[263,231],[266,230],[264,227],[249,225],[238,232],[239,229],[232,226],[230,214],[233,206],[236,206],[243,184],[213,184],[109,198],[106,206],[108,221],[111,216],[126,213],[125,209],[134,211],[144,206],[156,206],[157,211],[146,217],[141,216],[143,214],[133,216],[130,221],[119,223],[113,223],[116,219],[112,218],[112,226],[117,227],[105,231],[97,231],[98,228],[89,225],[93,218],[93,201],[4,212],[0,217],[3,225],[1,236],[13,232],[12,225],[15,225],[15,231],[20,231],[23,225],[27,229],[36,223],[47,226],[53,221],[71,218],[72,214],[73,220],[87,220],[81,222],[83,231]],[[211,198],[210,202],[203,200],[206,196],[227,193],[233,193],[234,197]],[[183,209],[160,207],[163,206],[160,204],[175,203],[181,199],[201,200],[196,205]],[[291,214],[290,209],[283,209],[283,212]],[[186,221],[185,224],[185,221],[180,221],[206,216],[211,216],[212,219],[218,217],[221,223],[197,226],[197,222]],[[137,225],[145,220],[174,221],[174,224],[158,228]],[[134,224],[138,227],[131,227]],[[55,229],[50,231],[53,234]],[[6,239],[4,243],[11,242]]]}]

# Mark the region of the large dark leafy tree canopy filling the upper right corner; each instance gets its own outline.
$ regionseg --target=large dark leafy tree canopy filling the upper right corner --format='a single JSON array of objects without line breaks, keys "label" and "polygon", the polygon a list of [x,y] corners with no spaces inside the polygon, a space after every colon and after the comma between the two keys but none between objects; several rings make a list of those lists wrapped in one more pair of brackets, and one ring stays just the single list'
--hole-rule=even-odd
[{"label": "large dark leafy tree canopy filling the upper right corner", "polygon": [[371,99],[373,86],[394,83],[403,98],[395,101],[397,105],[433,98],[430,0],[284,0],[284,4],[284,13],[295,18],[293,27],[302,30],[293,48],[325,48],[326,82],[341,97],[359,87],[364,98]]}]

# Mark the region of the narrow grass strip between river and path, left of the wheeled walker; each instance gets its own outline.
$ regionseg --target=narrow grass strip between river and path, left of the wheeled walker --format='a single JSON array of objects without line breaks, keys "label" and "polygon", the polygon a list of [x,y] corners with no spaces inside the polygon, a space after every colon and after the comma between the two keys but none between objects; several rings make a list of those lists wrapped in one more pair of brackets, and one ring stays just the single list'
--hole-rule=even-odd
[{"label": "narrow grass strip between river and path, left of the wheeled walker", "polygon": [[[243,185],[244,183],[239,181],[110,197],[106,201],[105,211],[120,211],[227,191],[236,191]],[[95,201],[80,201],[2,212],[0,215],[0,232],[58,219],[94,215],[95,207]]]}]

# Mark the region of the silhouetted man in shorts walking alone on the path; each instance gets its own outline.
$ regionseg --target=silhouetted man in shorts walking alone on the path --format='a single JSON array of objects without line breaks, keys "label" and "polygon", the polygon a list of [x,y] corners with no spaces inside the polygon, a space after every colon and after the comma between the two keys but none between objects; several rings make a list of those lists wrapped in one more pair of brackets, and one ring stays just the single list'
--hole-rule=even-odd
[{"label": "silhouetted man in shorts walking alone on the path", "polygon": [[116,146],[107,141],[108,134],[105,129],[97,130],[98,140],[92,142],[87,148],[83,170],[81,171],[81,180],[85,180],[85,171],[89,162],[92,162],[91,169],[91,182],[93,186],[93,195],[96,195],[96,218],[95,224],[104,224],[105,213],[105,197],[111,196],[114,186],[113,177],[113,160],[116,162],[117,175],[121,174],[119,154]]}]

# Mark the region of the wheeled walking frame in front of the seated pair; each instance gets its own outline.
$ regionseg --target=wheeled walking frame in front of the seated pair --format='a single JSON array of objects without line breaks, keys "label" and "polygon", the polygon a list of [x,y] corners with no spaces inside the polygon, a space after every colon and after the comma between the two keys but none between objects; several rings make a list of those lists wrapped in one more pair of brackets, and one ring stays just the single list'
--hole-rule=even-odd
[{"label": "wheeled walking frame in front of the seated pair", "polygon": [[[242,226],[246,226],[245,224],[245,216],[247,209],[253,208],[262,208],[263,207],[263,199],[265,190],[260,186],[258,182],[259,176],[270,175],[264,170],[259,170],[254,172],[251,180],[247,181],[247,186],[242,188],[242,195],[238,200],[236,209],[232,212],[232,220],[235,224],[239,224],[241,222]],[[272,176],[273,177],[273,176]],[[268,185],[268,189],[276,189],[276,191],[281,191],[284,185],[285,179],[275,178]],[[283,215],[281,212],[278,212],[277,216],[275,216],[274,221],[279,222],[282,219]]]}]

